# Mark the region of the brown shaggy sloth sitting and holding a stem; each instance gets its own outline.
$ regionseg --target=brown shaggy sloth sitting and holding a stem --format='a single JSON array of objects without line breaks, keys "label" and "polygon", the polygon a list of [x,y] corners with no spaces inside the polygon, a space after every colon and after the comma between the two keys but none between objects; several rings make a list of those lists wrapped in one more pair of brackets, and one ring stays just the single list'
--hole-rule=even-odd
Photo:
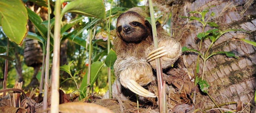
[{"label": "brown shaggy sloth sitting and holding a stem", "polygon": [[153,79],[152,69],[156,69],[156,58],[160,58],[162,69],[169,68],[181,56],[181,45],[171,38],[156,22],[158,49],[154,49],[152,28],[145,20],[149,13],[135,7],[124,12],[117,18],[114,50],[117,60],[114,73],[124,88],[144,97],[156,95],[142,86]]}]

